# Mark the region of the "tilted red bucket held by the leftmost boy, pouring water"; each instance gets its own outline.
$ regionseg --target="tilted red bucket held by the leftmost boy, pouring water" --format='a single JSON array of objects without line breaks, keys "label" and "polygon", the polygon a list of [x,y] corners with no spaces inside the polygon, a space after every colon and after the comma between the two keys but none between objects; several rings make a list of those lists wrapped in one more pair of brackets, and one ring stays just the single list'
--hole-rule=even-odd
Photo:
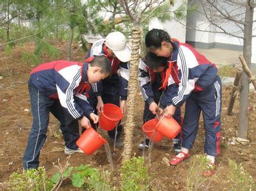
[{"label": "tilted red bucket held by the leftmost boy, pouring water", "polygon": [[106,143],[107,140],[101,137],[101,135],[99,135],[93,128],[86,129],[76,141],[76,145],[88,155],[94,153],[94,151]]}]

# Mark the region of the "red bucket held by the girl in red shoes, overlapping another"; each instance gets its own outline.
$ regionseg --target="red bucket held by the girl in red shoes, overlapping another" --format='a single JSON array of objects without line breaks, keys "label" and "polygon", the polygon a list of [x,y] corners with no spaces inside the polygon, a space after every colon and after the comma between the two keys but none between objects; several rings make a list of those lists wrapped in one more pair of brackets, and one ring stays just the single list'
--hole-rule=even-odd
[{"label": "red bucket held by the girl in red shoes, overlapping another", "polygon": [[162,133],[167,138],[175,138],[181,129],[180,124],[173,117],[164,117],[158,123],[156,131]]}]

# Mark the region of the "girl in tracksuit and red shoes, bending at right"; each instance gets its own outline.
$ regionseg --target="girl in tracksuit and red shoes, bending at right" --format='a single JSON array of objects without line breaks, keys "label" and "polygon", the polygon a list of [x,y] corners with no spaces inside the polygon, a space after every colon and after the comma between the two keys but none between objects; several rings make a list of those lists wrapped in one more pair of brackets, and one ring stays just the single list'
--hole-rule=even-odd
[{"label": "girl in tracksuit and red shoes, bending at right", "polygon": [[[171,39],[166,31],[152,29],[146,35],[146,47],[157,56],[169,59],[163,87],[165,95],[160,100],[166,104],[164,115],[170,117],[176,108],[185,103],[182,126],[182,149],[173,157],[171,165],[177,165],[189,158],[198,131],[200,113],[203,113],[205,127],[205,153],[210,161],[210,170],[204,176],[214,173],[214,160],[219,154],[221,129],[221,80],[216,65],[198,53],[192,46]],[[162,108],[164,108],[162,104]]]}]

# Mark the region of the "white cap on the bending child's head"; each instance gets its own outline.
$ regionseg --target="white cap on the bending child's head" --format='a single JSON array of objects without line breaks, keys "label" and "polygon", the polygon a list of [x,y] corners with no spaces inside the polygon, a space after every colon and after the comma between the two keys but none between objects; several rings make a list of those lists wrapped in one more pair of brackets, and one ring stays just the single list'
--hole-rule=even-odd
[{"label": "white cap on the bending child's head", "polygon": [[131,60],[131,51],[129,47],[126,46],[126,38],[123,33],[119,31],[109,33],[106,37],[105,44],[121,62]]}]

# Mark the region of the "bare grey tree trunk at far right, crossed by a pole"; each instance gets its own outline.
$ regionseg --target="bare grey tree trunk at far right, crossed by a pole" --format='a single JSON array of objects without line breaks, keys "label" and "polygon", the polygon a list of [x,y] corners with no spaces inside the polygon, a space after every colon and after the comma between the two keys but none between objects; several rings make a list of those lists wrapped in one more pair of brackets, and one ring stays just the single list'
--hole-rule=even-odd
[{"label": "bare grey tree trunk at far right, crossed by a pole", "polygon": [[[252,26],[253,26],[253,8],[250,6],[250,0],[246,1],[246,13],[244,22],[244,45],[243,56],[251,66],[252,58]],[[247,139],[248,134],[248,104],[249,104],[249,79],[243,71],[241,78],[240,103],[239,103],[239,126],[237,137]]]}]

